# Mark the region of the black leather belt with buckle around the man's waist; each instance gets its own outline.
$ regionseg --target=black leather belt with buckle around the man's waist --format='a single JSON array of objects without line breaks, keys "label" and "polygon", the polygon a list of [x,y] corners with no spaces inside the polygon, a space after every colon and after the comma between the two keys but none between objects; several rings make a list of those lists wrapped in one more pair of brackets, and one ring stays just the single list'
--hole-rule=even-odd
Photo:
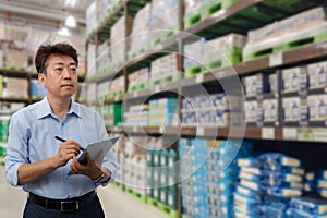
[{"label": "black leather belt with buckle around the man's waist", "polygon": [[58,209],[60,211],[76,211],[84,205],[92,203],[96,196],[97,193],[95,191],[92,191],[85,195],[70,199],[50,199],[29,193],[28,199],[48,209]]}]

